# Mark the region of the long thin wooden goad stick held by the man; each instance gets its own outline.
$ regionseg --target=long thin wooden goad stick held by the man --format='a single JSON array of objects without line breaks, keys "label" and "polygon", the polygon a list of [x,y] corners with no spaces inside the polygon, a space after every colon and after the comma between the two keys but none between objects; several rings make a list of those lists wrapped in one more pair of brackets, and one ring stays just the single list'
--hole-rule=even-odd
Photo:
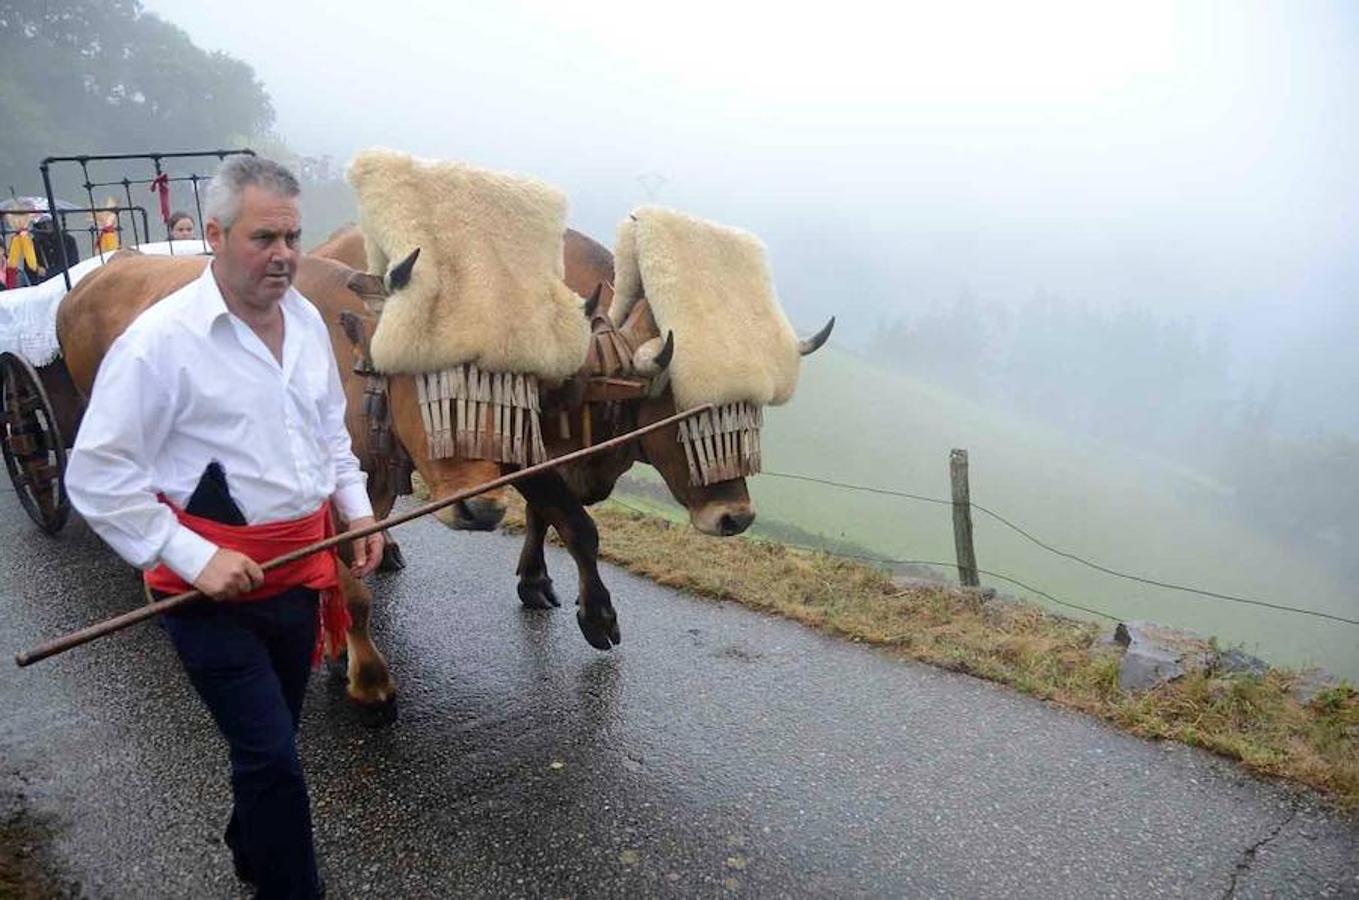
[{"label": "long thin wooden goad stick held by the man", "polygon": [[[359,527],[352,532],[345,532],[344,534],[336,534],[334,537],[328,537],[326,540],[319,541],[317,544],[311,544],[310,547],[303,547],[302,549],[294,551],[291,553],[284,553],[277,559],[272,559],[268,563],[264,563],[261,568],[264,571],[269,571],[272,568],[277,568],[279,566],[285,566],[288,563],[299,560],[304,556],[311,556],[313,553],[328,551],[332,547],[338,547],[345,541],[353,541],[360,537],[375,534],[376,532],[383,532],[397,525],[404,525],[410,519],[417,519],[423,515],[429,515],[431,513],[442,510],[443,507],[457,503],[458,500],[466,500],[467,498],[477,496],[478,494],[485,494],[487,491],[493,491],[507,484],[514,484],[515,481],[522,481],[523,479],[535,474],[542,474],[544,472],[548,472],[559,465],[575,462],[576,460],[584,460],[586,457],[602,453],[605,450],[610,450],[613,447],[617,447],[618,445],[626,443],[628,440],[640,438],[644,434],[650,434],[652,431],[659,431],[660,428],[678,424],[685,419],[689,419],[690,416],[697,416],[711,409],[712,409],[711,404],[704,404],[703,406],[694,406],[693,409],[686,409],[667,419],[654,421],[650,426],[636,428],[633,431],[629,431],[628,434],[618,435],[617,438],[610,438],[603,443],[597,443],[593,447],[576,450],[563,457],[557,457],[556,460],[549,460],[546,462],[540,462],[535,466],[529,466],[527,469],[519,469],[518,472],[503,474],[499,479],[487,481],[485,484],[478,484],[476,487],[467,488],[466,491],[458,491],[457,494],[446,496],[442,500],[434,500],[431,503],[425,503],[424,506],[419,506],[410,510],[409,513],[402,513],[401,515],[393,515],[391,518],[383,519],[381,522],[374,522],[367,527]],[[164,600],[158,600],[154,604],[147,604],[145,606],[140,606],[137,609],[133,609],[132,612],[122,613],[121,616],[106,619],[105,621],[90,625],[88,628],[82,628],[80,631],[73,631],[69,635],[64,635],[54,640],[49,640],[48,643],[39,644],[33,650],[19,651],[15,654],[14,661],[20,668],[30,666],[34,662],[41,662],[42,659],[46,659],[48,657],[54,657],[58,653],[65,653],[72,647],[79,647],[80,644],[90,643],[95,638],[111,635],[113,632],[121,631],[128,625],[135,625],[136,623],[151,619],[152,616],[159,616],[160,613],[175,609],[177,606],[183,606],[189,601],[198,600],[200,597],[202,597],[202,591],[188,590],[182,594],[175,594],[174,597],[166,597]]]}]

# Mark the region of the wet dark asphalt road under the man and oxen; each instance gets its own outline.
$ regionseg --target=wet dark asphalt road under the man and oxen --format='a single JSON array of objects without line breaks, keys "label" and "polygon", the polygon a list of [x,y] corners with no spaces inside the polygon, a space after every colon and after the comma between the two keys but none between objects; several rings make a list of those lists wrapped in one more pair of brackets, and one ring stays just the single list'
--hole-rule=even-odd
[{"label": "wet dark asphalt road under the man and oxen", "polygon": [[[139,587],[0,495],[0,793],[80,893],[241,896],[224,745],[159,628],[10,662]],[[1359,825],[1205,753],[617,570],[602,654],[571,610],[520,610],[516,538],[400,537],[375,625],[398,722],[323,672],[307,700],[334,897],[1359,896]]]}]

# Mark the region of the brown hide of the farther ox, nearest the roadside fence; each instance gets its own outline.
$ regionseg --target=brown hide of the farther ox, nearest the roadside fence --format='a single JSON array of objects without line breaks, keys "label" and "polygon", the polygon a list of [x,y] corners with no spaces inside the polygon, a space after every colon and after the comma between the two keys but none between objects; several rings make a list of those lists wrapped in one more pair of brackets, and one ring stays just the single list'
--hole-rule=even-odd
[{"label": "brown hide of the farther ox, nearest the roadside fence", "polygon": [[[336,231],[323,245],[313,250],[313,254],[338,260],[356,269],[367,265],[363,234],[352,226]],[[583,234],[568,230],[565,234],[565,281],[572,291],[582,296],[591,295],[597,287],[602,285],[595,315],[607,314],[609,303],[613,300],[613,254]],[[644,302],[637,305],[635,314],[629,317],[622,330],[633,347],[640,347],[644,341],[658,336],[656,324]],[[393,386],[400,381],[400,377],[393,377]],[[410,379],[405,378],[405,381]],[[549,397],[546,404],[550,401]],[[404,412],[398,412],[395,397],[393,397],[391,405],[393,427],[398,440],[412,451],[413,447],[423,447],[424,424],[419,406],[410,404]],[[602,406],[590,404],[583,409],[567,412],[569,435],[564,435],[557,426],[557,411],[545,405],[544,442],[549,457],[560,457],[584,446],[582,416],[588,416],[593,442],[598,443],[624,431],[671,416],[674,412],[674,397],[669,389],[652,400],[622,404],[622,415],[612,419],[603,415]],[[576,616],[582,632],[591,646],[601,650],[607,650],[610,643],[617,643],[618,629],[607,590],[599,581],[597,567],[598,532],[582,504],[598,503],[607,498],[618,477],[633,462],[648,462],[660,472],[671,495],[689,510],[690,522],[700,532],[720,536],[739,534],[754,521],[754,510],[743,479],[711,485],[692,485],[689,483],[689,466],[680,445],[677,426],[652,432],[640,442],[629,443],[618,450],[564,466],[560,479],[541,479],[518,485],[527,502],[525,544],[518,566],[519,600],[533,609],[549,609],[560,605],[542,552],[546,529],[550,525],[557,529],[576,561],[580,576],[580,609]]]}]

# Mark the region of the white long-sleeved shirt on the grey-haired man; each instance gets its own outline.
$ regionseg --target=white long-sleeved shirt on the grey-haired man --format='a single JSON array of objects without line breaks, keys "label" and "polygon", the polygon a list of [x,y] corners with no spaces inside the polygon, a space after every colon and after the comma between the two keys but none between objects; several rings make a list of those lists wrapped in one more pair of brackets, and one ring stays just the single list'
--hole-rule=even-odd
[{"label": "white long-sleeved shirt on the grey-haired man", "polygon": [[181,508],[219,461],[246,522],[314,513],[372,515],[344,424],[325,321],[289,288],[283,364],[227,311],[212,266],[139,315],[109,348],[67,466],[71,503],[125,560],[163,561],[193,582],[217,551],[156,500]]}]

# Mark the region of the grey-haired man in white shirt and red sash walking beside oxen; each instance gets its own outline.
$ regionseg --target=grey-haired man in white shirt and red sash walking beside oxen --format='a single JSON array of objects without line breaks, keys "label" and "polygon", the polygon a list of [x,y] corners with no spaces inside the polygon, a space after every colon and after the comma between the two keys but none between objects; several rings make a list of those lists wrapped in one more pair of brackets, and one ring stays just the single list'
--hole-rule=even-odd
[{"label": "grey-haired man in white shirt and red sash walking beside oxen", "polygon": [[[109,349],[67,469],[75,507],[155,567],[152,589],[216,601],[163,624],[230,745],[226,840],[258,897],[323,895],[296,727],[336,560],[268,576],[258,563],[319,540],[332,504],[372,523],[325,322],[292,288],[298,193],[275,162],[222,165],[204,208],[212,264]],[[381,534],[356,541],[352,572],[381,557]]]}]

